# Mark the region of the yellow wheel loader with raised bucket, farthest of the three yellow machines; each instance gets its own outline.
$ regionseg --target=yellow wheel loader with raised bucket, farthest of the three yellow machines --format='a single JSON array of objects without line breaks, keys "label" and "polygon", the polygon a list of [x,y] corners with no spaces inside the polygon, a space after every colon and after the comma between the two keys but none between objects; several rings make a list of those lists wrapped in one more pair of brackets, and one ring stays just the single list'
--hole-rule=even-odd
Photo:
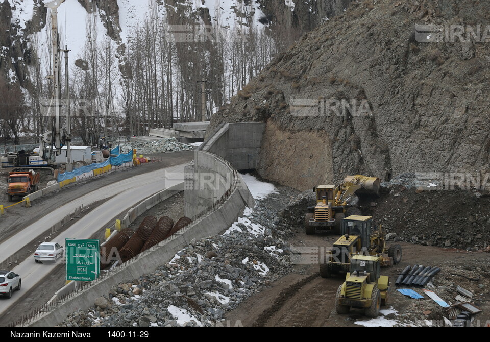
[{"label": "yellow wheel loader with raised bucket, farthest of the three yellow machines", "polygon": [[344,182],[337,185],[318,185],[313,188],[316,193],[316,205],[308,207],[305,215],[305,232],[314,234],[316,230],[332,230],[340,234],[342,220],[346,216],[360,215],[356,208],[357,194],[379,194],[381,179],[362,175],[347,176]]}]

